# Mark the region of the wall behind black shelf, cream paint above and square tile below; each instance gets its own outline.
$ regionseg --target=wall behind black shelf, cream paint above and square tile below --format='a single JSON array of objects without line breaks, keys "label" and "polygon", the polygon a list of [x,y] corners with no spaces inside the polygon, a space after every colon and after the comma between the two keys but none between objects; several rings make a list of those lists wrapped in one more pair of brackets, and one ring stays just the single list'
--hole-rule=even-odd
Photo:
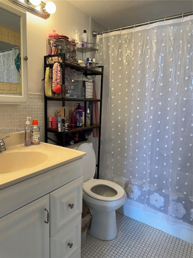
[{"label": "wall behind black shelf, cream paint above and square tile below", "polygon": [[[6,0],[8,2],[8,0]],[[47,2],[47,1],[44,1]],[[74,36],[74,29],[87,30],[90,38],[90,20],[95,21],[65,0],[53,0],[56,12],[45,20],[27,12],[27,56],[28,56],[28,103],[2,104],[0,106],[0,135],[11,134],[23,128],[26,116],[38,119],[40,125],[40,140],[45,140],[44,135],[44,62],[46,55],[46,39],[52,30],[68,37]],[[104,26],[96,22],[99,31]],[[31,120],[32,121],[32,120]],[[9,129],[11,128],[11,129]],[[16,128],[16,130],[15,130]]]}]

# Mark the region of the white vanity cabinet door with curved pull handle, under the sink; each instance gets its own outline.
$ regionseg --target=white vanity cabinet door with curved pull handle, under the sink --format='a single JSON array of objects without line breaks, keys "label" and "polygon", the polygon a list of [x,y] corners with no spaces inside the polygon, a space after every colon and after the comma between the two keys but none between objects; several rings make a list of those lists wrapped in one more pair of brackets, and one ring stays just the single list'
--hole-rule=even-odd
[{"label": "white vanity cabinet door with curved pull handle, under the sink", "polygon": [[0,257],[49,257],[49,194],[0,218]]}]

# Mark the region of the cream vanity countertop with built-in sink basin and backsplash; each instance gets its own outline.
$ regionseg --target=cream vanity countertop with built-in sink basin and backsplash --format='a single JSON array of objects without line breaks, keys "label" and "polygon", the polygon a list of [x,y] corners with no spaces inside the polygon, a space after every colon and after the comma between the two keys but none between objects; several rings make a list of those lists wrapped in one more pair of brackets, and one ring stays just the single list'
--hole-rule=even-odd
[{"label": "cream vanity countertop with built-in sink basin and backsplash", "polygon": [[5,147],[6,151],[0,152],[0,189],[53,169],[62,171],[65,164],[86,155],[45,142],[25,147],[24,132],[11,134],[5,139]]}]

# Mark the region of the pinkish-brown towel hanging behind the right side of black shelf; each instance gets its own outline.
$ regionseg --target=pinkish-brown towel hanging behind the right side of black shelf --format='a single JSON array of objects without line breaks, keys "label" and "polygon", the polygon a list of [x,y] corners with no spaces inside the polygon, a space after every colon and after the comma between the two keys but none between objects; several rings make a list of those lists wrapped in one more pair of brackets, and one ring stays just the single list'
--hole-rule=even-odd
[{"label": "pinkish-brown towel hanging behind the right side of black shelf", "polygon": [[[93,99],[98,99],[96,93],[96,82],[93,80]],[[92,123],[99,125],[99,103],[93,101]],[[99,138],[99,128],[93,128],[93,138]]]}]

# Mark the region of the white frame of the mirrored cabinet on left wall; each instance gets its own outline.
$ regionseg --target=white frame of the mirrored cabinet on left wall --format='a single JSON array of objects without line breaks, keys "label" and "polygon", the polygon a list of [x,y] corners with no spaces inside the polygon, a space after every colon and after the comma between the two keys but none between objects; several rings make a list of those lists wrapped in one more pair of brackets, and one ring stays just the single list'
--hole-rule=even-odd
[{"label": "white frame of the mirrored cabinet on left wall", "polygon": [[28,76],[27,76],[27,61],[24,60],[24,56],[27,56],[27,19],[26,11],[22,8],[15,7],[8,0],[5,2],[0,0],[1,9],[11,12],[14,15],[20,17],[20,29],[21,29],[21,96],[13,95],[1,95],[0,104],[14,104],[14,103],[26,103],[28,100]]}]

